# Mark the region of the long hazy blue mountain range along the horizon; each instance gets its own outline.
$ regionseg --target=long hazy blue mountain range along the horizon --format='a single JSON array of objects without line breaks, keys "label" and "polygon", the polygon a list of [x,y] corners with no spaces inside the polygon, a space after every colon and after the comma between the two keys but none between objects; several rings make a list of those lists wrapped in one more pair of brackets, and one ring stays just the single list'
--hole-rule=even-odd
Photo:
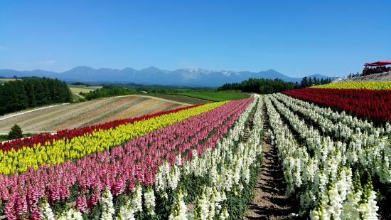
[{"label": "long hazy blue mountain range along the horizon", "polygon": [[[230,71],[230,70],[204,70],[200,68],[182,68],[178,70],[161,70],[153,66],[142,70],[133,68],[110,69],[91,68],[88,66],[77,66],[68,71],[58,73],[47,70],[0,70],[2,77],[27,77],[38,76],[48,78],[58,78],[67,81],[83,82],[107,82],[107,83],[138,83],[146,85],[176,85],[176,86],[203,86],[217,87],[224,83],[238,83],[248,78],[279,78],[288,82],[300,82],[301,78],[291,78],[276,70],[265,70],[258,73],[250,71]],[[316,78],[336,78],[326,75],[308,75]]]}]

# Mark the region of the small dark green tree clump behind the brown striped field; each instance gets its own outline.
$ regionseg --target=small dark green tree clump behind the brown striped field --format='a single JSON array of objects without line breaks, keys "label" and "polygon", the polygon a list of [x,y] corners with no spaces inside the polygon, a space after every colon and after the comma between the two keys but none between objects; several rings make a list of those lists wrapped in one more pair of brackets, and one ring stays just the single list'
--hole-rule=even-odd
[{"label": "small dark green tree clump behind the brown striped field", "polygon": [[89,93],[80,93],[84,95],[86,100],[92,100],[95,98],[107,98],[117,95],[134,95],[136,91],[130,90],[129,88],[123,88],[114,85],[104,85],[102,88],[90,91]]}]

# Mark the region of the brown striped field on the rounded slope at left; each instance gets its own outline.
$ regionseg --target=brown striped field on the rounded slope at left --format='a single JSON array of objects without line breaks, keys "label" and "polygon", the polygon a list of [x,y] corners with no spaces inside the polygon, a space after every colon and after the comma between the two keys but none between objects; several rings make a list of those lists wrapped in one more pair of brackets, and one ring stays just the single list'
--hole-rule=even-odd
[{"label": "brown striped field on the rounded slope at left", "polygon": [[0,133],[8,133],[15,124],[21,126],[23,132],[54,132],[117,119],[138,117],[185,106],[137,95],[103,98],[27,112],[5,120],[1,120],[0,117]]}]

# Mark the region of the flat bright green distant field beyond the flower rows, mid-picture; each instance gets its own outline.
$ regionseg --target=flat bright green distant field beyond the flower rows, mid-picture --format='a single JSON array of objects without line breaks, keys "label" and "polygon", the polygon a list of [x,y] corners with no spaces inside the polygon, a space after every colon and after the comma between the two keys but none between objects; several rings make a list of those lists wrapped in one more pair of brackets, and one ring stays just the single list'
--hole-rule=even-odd
[{"label": "flat bright green distant field beyond the flower rows, mid-picture", "polygon": [[185,95],[193,98],[200,98],[204,100],[210,100],[215,102],[225,100],[238,100],[242,98],[249,98],[250,95],[242,93],[229,93],[229,92],[190,92],[190,93],[178,93],[179,95]]}]

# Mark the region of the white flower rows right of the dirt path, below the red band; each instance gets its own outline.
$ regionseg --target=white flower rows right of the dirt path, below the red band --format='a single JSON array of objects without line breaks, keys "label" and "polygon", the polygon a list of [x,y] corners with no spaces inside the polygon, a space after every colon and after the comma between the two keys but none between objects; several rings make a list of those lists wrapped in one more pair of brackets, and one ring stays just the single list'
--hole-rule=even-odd
[{"label": "white flower rows right of the dirt path, below the red band", "polygon": [[286,194],[299,200],[300,214],[377,219],[376,192],[391,189],[390,122],[376,127],[281,93],[268,95],[265,105]]}]

